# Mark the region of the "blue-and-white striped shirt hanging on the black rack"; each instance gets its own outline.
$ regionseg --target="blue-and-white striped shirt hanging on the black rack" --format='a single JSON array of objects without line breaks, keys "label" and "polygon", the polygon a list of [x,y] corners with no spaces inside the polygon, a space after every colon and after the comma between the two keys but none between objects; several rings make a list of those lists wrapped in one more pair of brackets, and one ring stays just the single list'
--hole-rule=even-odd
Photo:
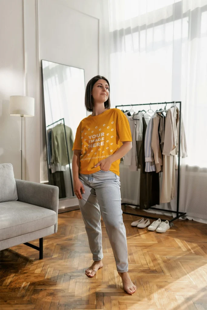
[{"label": "blue-and-white striped shirt hanging on the black rack", "polygon": [[154,153],[151,147],[152,142],[152,129],[153,129],[153,117],[155,114],[151,117],[147,128],[146,128],[146,134],[145,134],[145,172],[152,172],[156,171],[155,168],[155,161],[154,161]]}]

